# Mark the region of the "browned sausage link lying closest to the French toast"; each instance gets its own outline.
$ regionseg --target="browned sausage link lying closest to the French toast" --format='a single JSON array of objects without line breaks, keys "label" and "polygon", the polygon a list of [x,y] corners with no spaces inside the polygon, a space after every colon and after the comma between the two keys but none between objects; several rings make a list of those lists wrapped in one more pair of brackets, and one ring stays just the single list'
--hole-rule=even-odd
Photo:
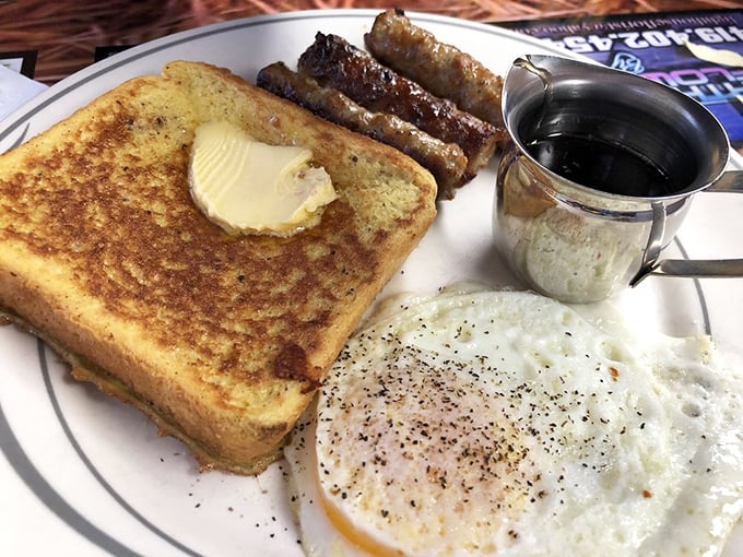
[{"label": "browned sausage link lying closest to the French toast", "polygon": [[371,112],[340,91],[322,87],[283,62],[261,69],[256,82],[259,87],[287,98],[326,120],[402,151],[434,175],[439,199],[453,198],[456,188],[467,181],[467,157],[459,145],[444,143],[394,115]]}]

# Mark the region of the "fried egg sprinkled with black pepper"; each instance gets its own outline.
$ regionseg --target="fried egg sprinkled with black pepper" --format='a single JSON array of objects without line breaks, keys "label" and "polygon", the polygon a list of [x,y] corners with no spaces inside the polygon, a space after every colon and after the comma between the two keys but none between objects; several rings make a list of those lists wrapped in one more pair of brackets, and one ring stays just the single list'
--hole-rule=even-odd
[{"label": "fried egg sprinkled with black pepper", "polygon": [[404,298],[285,448],[309,556],[716,555],[743,513],[743,384],[707,336],[524,292]]}]

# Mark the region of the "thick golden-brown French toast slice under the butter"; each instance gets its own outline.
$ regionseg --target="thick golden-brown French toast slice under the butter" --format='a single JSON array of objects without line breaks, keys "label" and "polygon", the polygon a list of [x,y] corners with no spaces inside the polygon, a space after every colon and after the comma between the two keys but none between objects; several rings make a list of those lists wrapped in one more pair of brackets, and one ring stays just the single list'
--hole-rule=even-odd
[{"label": "thick golden-brown French toast slice under the butter", "polygon": [[[338,192],[320,223],[281,238],[210,222],[188,165],[213,119],[310,149]],[[431,174],[397,150],[225,69],[175,61],[0,156],[0,307],[202,469],[256,474],[435,199]]]}]

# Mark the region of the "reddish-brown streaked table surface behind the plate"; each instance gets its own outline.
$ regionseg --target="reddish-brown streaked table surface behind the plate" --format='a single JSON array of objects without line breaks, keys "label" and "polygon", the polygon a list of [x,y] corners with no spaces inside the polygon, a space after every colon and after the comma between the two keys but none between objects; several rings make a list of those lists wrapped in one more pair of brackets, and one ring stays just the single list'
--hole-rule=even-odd
[{"label": "reddish-brown streaked table surface behind the plate", "polygon": [[0,0],[0,52],[36,50],[47,84],[94,61],[96,47],[137,45],[225,20],[293,10],[400,7],[481,22],[741,8],[741,0]]}]

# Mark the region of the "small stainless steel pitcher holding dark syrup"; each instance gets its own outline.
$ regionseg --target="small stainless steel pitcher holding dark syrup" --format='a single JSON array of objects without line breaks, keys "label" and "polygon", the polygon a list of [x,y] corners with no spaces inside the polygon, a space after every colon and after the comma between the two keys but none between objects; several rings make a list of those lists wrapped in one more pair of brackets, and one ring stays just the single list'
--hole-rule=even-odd
[{"label": "small stainless steel pitcher holding dark syrup", "polygon": [[648,274],[743,276],[740,259],[660,259],[696,193],[743,190],[703,105],[620,70],[528,56],[506,75],[503,112],[494,239],[530,287],[587,303]]}]

